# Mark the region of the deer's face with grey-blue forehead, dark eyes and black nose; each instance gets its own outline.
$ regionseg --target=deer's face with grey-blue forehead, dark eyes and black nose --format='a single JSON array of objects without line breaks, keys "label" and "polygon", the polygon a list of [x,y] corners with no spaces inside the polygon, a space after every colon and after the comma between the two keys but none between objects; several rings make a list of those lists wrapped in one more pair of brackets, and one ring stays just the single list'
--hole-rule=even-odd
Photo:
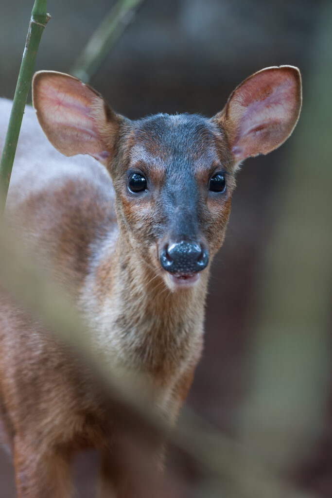
[{"label": "deer's face with grey-blue forehead, dark eyes and black nose", "polygon": [[111,166],[119,223],[171,288],[188,287],[221,246],[234,188],[225,134],[201,116],[131,124]]}]

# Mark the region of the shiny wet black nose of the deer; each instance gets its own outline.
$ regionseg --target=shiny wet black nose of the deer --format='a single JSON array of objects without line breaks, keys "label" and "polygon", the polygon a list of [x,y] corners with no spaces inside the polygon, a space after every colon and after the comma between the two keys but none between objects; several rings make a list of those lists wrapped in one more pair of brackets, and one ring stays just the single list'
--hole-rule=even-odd
[{"label": "shiny wet black nose of the deer", "polygon": [[179,242],[162,250],[160,264],[170,273],[197,273],[209,262],[209,252],[199,244]]}]

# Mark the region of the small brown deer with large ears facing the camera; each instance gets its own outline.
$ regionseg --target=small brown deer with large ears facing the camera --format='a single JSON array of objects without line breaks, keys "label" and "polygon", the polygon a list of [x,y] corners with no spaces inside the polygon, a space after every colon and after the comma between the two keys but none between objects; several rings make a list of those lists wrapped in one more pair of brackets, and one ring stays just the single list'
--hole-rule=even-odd
[{"label": "small brown deer with large ears facing the camera", "polygon": [[[130,121],[76,78],[33,78],[49,142],[65,156],[94,159],[59,154],[26,109],[6,220],[70,292],[96,351],[124,375],[144,371],[151,403],[170,421],[201,355],[209,271],[236,170],[287,139],[301,92],[297,68],[269,67],[235,88],[211,119]],[[8,101],[1,109],[4,130]],[[0,421],[19,498],[71,497],[70,462],[86,448],[101,453],[100,497],[147,496],[89,369],[4,292]]]}]

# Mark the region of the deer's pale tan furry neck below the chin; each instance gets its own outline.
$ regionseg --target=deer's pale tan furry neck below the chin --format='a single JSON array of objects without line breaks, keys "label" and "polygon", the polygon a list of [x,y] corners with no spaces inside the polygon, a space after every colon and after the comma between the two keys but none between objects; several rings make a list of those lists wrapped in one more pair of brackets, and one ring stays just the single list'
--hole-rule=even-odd
[{"label": "deer's pale tan furry neck below the chin", "polygon": [[[99,347],[161,377],[180,363],[186,366],[202,344],[207,281],[202,274],[192,288],[171,292],[121,234],[115,244],[111,235],[94,262],[84,297]],[[98,289],[91,289],[93,282]]]}]

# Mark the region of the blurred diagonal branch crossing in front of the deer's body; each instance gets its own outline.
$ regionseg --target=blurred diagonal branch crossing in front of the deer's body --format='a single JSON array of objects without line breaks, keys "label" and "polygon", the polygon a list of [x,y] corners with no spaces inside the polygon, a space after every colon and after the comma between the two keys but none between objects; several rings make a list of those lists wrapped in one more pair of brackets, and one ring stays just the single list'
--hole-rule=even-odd
[{"label": "blurred diagonal branch crossing in front of the deer's body", "polygon": [[68,297],[35,267],[4,227],[0,231],[0,285],[7,295],[73,348],[100,378],[106,392],[134,411],[153,431],[194,457],[203,469],[212,472],[218,478],[217,496],[221,496],[220,489],[226,489],[227,494],[223,495],[226,498],[309,498],[279,481],[241,446],[189,408],[182,411],[174,430],[159,415],[147,410],[146,401],[140,397],[142,389],[137,388],[144,385],[144,376],[124,380],[112,370],[111,359],[107,363],[101,361],[92,347],[89,331]]}]

